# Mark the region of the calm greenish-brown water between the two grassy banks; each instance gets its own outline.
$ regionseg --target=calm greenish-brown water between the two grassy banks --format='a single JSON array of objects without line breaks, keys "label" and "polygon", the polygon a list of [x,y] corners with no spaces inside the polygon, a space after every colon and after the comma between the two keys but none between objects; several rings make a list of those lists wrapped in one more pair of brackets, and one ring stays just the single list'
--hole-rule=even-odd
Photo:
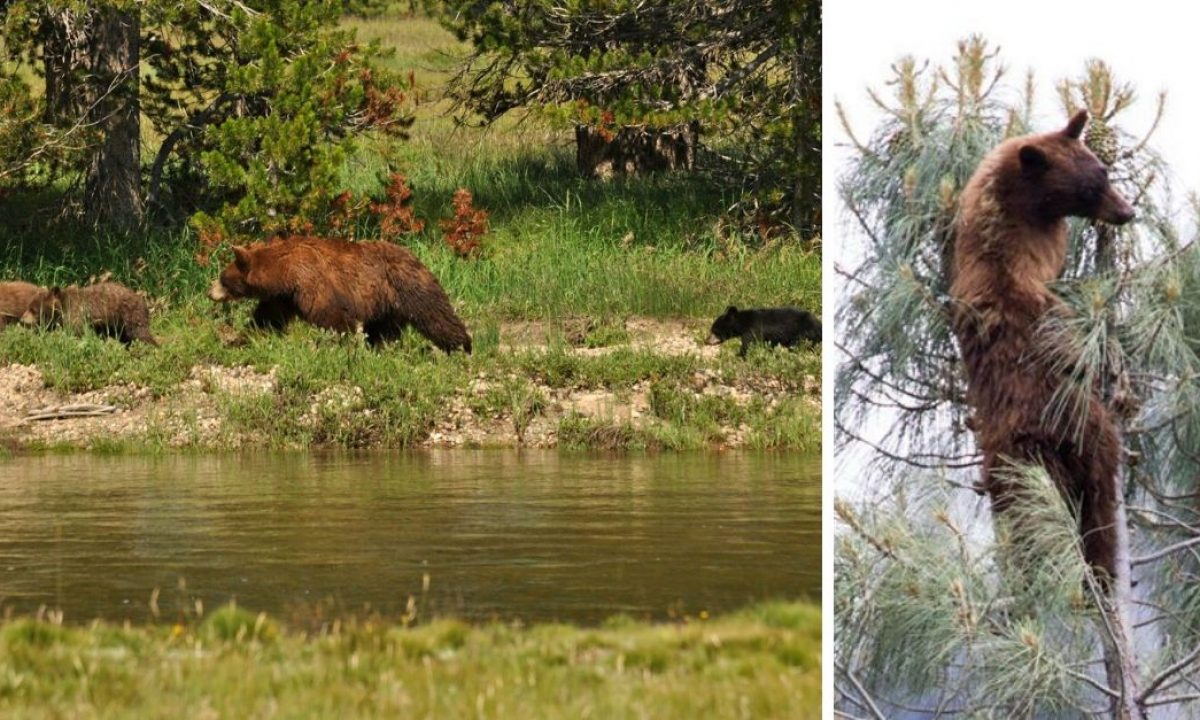
[{"label": "calm greenish-brown water between the two grassy banks", "polygon": [[[558,451],[0,461],[0,606],[598,622],[820,599],[815,456]],[[425,589],[426,576],[428,578]]]}]

